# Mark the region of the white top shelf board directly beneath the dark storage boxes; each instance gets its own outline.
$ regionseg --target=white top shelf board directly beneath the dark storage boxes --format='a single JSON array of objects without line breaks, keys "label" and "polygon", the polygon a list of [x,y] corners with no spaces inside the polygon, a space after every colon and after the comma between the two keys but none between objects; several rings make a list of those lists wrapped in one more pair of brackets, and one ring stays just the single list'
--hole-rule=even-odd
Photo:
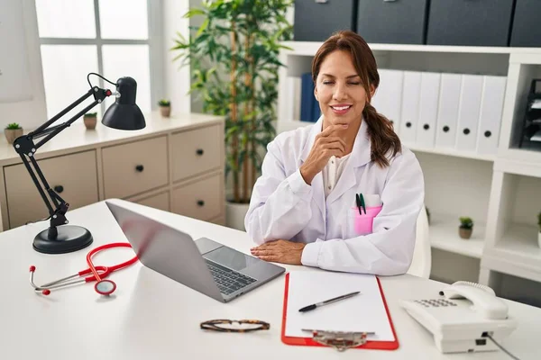
[{"label": "white top shelf board directly beneath the dark storage boxes", "polygon": [[[284,41],[282,45],[291,48],[289,54],[314,56],[322,41]],[[483,46],[444,46],[407,44],[369,44],[372,51],[451,52],[471,54],[541,54],[540,48],[509,48]]]}]

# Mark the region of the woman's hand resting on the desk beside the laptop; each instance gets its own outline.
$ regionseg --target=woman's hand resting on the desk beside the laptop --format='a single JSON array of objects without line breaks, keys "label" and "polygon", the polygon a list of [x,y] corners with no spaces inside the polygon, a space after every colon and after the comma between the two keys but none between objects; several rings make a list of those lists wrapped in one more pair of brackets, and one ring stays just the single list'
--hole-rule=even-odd
[{"label": "woman's hand resting on the desk beside the laptop", "polygon": [[301,265],[302,250],[307,244],[288,240],[266,242],[259,247],[252,247],[250,251],[254,257],[273,263]]}]

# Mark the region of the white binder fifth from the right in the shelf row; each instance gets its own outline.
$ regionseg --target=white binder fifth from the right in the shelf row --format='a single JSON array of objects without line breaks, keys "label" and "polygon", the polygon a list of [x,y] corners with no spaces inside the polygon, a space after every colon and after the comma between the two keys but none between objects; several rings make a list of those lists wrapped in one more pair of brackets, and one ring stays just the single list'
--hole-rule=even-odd
[{"label": "white binder fifth from the right in the shelf row", "polygon": [[400,140],[405,144],[413,144],[415,143],[417,119],[419,117],[421,73],[418,71],[404,71],[403,83],[399,136]]}]

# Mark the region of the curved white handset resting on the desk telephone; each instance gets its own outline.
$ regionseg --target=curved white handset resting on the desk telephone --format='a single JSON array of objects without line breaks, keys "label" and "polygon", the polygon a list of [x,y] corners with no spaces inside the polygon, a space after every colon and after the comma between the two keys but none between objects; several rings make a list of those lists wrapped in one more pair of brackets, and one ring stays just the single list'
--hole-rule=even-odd
[{"label": "curved white handset resting on the desk telephone", "polygon": [[478,311],[483,318],[504,320],[508,317],[507,304],[488,286],[460,281],[447,286],[440,294],[446,299],[470,300],[472,311]]}]

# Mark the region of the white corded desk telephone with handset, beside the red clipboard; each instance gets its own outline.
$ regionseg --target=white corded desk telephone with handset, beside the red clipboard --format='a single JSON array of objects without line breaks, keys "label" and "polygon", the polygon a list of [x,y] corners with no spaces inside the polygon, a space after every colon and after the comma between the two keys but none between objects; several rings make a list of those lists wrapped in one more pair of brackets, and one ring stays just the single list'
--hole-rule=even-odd
[{"label": "white corded desk telephone with handset, beside the red clipboard", "polygon": [[446,286],[440,295],[401,300],[400,306],[433,334],[441,353],[498,350],[491,339],[506,338],[517,328],[507,304],[488,286],[461,281]]}]

